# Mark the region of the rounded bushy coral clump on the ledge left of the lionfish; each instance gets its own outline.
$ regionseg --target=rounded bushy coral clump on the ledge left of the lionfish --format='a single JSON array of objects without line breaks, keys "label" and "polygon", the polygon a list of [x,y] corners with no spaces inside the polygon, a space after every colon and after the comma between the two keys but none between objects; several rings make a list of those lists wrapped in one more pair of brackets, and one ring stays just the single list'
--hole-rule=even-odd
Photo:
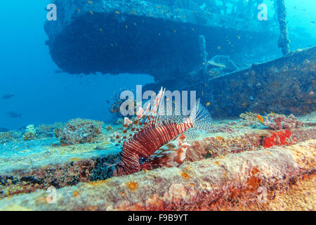
[{"label": "rounded bushy coral clump on the ledge left of the lionfish", "polygon": [[101,134],[103,122],[77,118],[55,129],[55,137],[62,144],[88,143]]}]

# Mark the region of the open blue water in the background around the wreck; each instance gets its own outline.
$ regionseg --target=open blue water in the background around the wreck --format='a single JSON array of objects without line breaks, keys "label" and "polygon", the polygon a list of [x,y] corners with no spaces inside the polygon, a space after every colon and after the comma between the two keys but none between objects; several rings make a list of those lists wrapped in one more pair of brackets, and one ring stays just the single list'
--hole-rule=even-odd
[{"label": "open blue water in the background around the wreck", "polygon": [[[315,0],[287,0],[291,50],[316,44]],[[119,88],[153,82],[149,75],[56,74],[44,44],[45,7],[49,0],[0,1],[0,127],[52,124],[74,117],[110,121],[107,100]],[[266,41],[266,40],[262,40]],[[275,48],[275,46],[273,47]],[[21,117],[13,118],[8,112]]]}]

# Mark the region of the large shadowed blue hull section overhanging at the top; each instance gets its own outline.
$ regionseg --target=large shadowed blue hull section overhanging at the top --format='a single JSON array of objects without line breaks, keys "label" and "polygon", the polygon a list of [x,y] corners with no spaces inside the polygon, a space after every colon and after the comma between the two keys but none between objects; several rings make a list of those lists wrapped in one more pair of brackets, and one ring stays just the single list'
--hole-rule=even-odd
[{"label": "large shadowed blue hull section overhanging at the top", "polygon": [[45,24],[46,44],[58,67],[71,74],[147,73],[164,81],[202,63],[199,35],[206,38],[209,57],[277,39],[274,20],[247,13],[256,6],[226,13],[224,6],[205,2],[202,10],[204,1],[55,0],[58,18]]}]

